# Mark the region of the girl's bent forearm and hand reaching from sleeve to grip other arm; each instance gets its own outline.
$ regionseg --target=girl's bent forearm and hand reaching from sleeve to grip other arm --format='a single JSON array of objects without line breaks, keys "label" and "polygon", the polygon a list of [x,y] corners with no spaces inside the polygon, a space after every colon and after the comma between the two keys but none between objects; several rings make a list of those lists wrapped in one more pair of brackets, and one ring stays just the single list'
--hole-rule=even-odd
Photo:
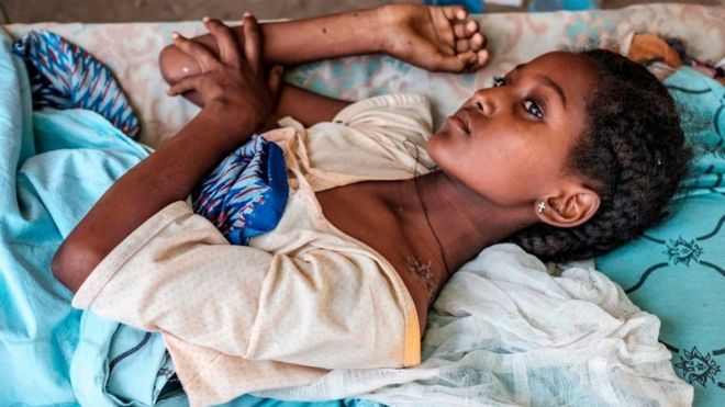
[{"label": "girl's bent forearm and hand reaching from sleeve to grip other arm", "polygon": [[223,50],[215,56],[176,36],[175,44],[202,66],[177,87],[193,90],[204,108],[170,140],[126,172],[101,196],[53,257],[55,276],[74,293],[113,248],[167,205],[183,201],[219,160],[243,144],[271,114],[280,70],[269,77],[259,59],[261,38],[245,16],[244,52],[213,30]]}]

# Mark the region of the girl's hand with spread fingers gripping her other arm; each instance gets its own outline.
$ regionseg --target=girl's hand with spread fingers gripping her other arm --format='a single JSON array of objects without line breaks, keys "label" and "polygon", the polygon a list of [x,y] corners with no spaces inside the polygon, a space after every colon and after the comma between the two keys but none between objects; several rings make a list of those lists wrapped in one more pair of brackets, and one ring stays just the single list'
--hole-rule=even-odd
[{"label": "girl's hand with spread fingers gripping her other arm", "polygon": [[[196,91],[203,109],[216,109],[219,121],[250,133],[259,129],[271,115],[281,83],[281,66],[265,77],[261,64],[261,35],[257,20],[245,13],[243,52],[232,30],[219,20],[204,18],[204,25],[216,41],[219,56],[198,42],[174,33],[174,44],[193,58],[201,74],[179,80],[169,95]],[[250,134],[249,133],[249,134]]]}]

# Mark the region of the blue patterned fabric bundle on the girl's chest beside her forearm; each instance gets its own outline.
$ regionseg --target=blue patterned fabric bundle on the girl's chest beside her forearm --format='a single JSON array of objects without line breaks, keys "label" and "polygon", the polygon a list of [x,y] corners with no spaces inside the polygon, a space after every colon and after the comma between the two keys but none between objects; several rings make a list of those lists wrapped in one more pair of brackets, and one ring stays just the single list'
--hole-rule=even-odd
[{"label": "blue patterned fabric bundle on the girl's chest beside her forearm", "polygon": [[192,194],[193,212],[211,221],[233,245],[274,229],[289,185],[285,154],[256,136],[226,157]]}]

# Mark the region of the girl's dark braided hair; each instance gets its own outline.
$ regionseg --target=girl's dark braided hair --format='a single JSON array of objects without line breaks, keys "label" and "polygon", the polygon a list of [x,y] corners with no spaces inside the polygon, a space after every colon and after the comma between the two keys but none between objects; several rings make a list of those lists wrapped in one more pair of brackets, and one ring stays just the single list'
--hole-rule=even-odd
[{"label": "girl's dark braided hair", "polygon": [[511,237],[545,261],[601,256],[660,223],[692,155],[674,102],[654,75],[609,50],[579,55],[594,63],[599,84],[568,168],[587,180],[601,203],[579,226],[538,223]]}]

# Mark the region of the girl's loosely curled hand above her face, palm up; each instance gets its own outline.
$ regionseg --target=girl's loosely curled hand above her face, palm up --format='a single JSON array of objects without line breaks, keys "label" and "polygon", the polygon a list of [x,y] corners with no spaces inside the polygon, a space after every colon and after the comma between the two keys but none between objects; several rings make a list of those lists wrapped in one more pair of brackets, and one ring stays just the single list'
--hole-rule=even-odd
[{"label": "girl's loosely curled hand above her face, palm up", "polygon": [[486,37],[464,7],[390,4],[381,9],[384,50],[433,71],[477,70],[488,61]]}]

